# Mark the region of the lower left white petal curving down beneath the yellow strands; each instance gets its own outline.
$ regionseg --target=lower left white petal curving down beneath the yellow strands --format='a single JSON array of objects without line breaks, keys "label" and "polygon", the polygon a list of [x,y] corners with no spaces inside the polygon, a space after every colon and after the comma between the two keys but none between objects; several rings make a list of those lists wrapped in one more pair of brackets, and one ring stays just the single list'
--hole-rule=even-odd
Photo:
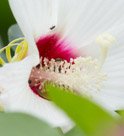
[{"label": "lower left white petal curving down beneath the yellow strands", "polygon": [[71,121],[60,109],[30,89],[28,78],[33,65],[33,58],[27,57],[0,69],[0,101],[4,110],[33,114],[54,127],[72,127]]}]

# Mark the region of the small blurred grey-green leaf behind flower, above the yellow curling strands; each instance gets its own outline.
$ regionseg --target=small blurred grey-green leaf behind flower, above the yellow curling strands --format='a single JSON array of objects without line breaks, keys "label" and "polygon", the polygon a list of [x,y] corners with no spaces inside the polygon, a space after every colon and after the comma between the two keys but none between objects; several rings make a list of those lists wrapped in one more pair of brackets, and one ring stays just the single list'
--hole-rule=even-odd
[{"label": "small blurred grey-green leaf behind flower, above the yellow curling strands", "polygon": [[21,29],[19,28],[19,26],[17,24],[12,25],[9,29],[8,29],[8,39],[9,42],[18,39],[20,37],[24,37]]}]

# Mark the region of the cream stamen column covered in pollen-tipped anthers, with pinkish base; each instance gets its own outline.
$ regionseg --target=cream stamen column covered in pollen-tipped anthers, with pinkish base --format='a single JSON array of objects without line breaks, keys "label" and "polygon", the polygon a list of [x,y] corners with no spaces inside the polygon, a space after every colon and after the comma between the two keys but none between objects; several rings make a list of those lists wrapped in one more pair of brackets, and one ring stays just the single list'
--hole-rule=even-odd
[{"label": "cream stamen column covered in pollen-tipped anthers, with pinkish base", "polygon": [[79,94],[88,94],[89,90],[99,91],[103,85],[102,82],[106,80],[106,74],[98,71],[99,63],[91,57],[78,57],[70,59],[69,62],[59,58],[56,60],[51,59],[49,61],[44,58],[37,65],[38,68],[37,66],[33,67],[29,78],[32,82],[29,85],[36,94],[45,92],[46,82],[68,88]]}]

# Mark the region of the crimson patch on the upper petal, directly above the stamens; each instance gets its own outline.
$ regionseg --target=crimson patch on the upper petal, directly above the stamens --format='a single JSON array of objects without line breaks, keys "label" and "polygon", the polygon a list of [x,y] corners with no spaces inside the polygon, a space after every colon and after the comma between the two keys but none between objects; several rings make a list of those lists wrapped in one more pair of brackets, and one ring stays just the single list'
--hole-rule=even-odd
[{"label": "crimson patch on the upper petal, directly above the stamens", "polygon": [[69,61],[76,58],[76,50],[66,40],[61,40],[59,35],[53,34],[41,37],[37,42],[40,57],[51,59],[61,58]]}]

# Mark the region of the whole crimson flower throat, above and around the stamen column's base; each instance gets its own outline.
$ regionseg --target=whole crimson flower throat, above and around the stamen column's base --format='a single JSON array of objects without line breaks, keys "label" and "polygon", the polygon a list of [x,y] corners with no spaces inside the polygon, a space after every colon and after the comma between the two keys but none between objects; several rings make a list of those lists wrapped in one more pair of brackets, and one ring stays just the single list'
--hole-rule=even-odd
[{"label": "whole crimson flower throat, above and around the stamen column's base", "polygon": [[[44,60],[44,58],[47,58],[49,61],[51,59],[70,61],[70,58],[75,59],[76,57],[78,57],[78,55],[76,54],[76,50],[72,48],[70,43],[67,43],[66,40],[61,40],[60,36],[56,34],[42,36],[36,42],[36,44],[42,60]],[[46,75],[48,77],[49,75],[47,75],[47,73],[43,71],[43,66],[44,61],[42,61],[39,65],[32,69],[29,78],[29,85],[35,94],[47,99],[47,94],[41,87],[41,84],[46,82],[43,76]]]}]

